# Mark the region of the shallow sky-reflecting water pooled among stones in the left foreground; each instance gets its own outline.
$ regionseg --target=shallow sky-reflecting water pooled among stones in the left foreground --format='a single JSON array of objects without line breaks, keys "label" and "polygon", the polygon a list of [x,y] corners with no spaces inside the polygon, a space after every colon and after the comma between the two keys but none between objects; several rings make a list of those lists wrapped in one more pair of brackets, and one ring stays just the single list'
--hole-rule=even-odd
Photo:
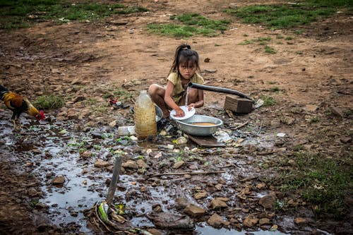
[{"label": "shallow sky-reflecting water pooled among stones in the left foreground", "polygon": [[[9,125],[8,125],[9,126]],[[9,126],[10,127],[10,126]],[[49,205],[49,219],[52,223],[59,226],[65,226],[71,222],[80,224],[80,231],[85,234],[91,234],[92,231],[87,227],[83,211],[92,208],[95,203],[100,203],[107,196],[107,179],[112,177],[112,172],[106,168],[100,169],[94,167],[97,159],[112,162],[112,148],[125,143],[116,143],[114,131],[109,128],[96,128],[88,133],[76,132],[74,123],[41,123],[32,124],[26,133],[21,136],[22,140],[28,143],[18,144],[18,139],[13,138],[13,133],[5,128],[3,136],[6,145],[18,145],[18,151],[28,152],[32,155],[32,161],[36,162],[34,172],[41,178],[43,183],[42,191],[44,198],[40,203]],[[22,141],[21,140],[21,141]],[[16,142],[17,141],[17,142]],[[165,145],[162,141],[151,143],[148,141],[138,143],[138,148],[142,150],[160,151],[161,146]],[[124,145],[122,147],[129,147]],[[196,147],[189,145],[189,149]],[[131,146],[133,148],[133,146]],[[42,154],[32,154],[32,150],[39,149]],[[89,150],[92,152],[90,157],[80,157],[80,151]],[[222,149],[207,150],[211,154],[222,152]],[[196,159],[200,158],[196,153]],[[170,164],[171,159],[167,156],[173,156],[171,150],[165,157],[160,157],[160,164]],[[133,156],[132,156],[133,157]],[[224,179],[227,183],[232,184],[234,177],[239,172],[246,169],[241,167],[239,159],[227,159],[225,163],[220,164],[236,164],[238,168],[230,169],[227,173],[220,175],[209,175],[208,181],[217,181]],[[244,163],[245,164],[245,163]],[[240,166],[240,167],[239,167]],[[248,166],[249,167],[249,166]],[[239,171],[240,170],[240,171]],[[127,172],[126,172],[127,173]],[[63,186],[53,186],[51,181],[54,176],[64,175],[65,183]],[[193,176],[193,181],[185,181],[182,177],[161,176],[157,181],[149,181],[140,174],[121,174],[118,189],[114,194],[114,204],[124,203],[126,205],[126,215],[131,217],[131,223],[135,227],[152,227],[152,222],[145,217],[145,214],[152,211],[152,205],[160,205],[164,212],[178,213],[175,209],[175,199],[178,197],[186,197],[191,203],[198,204],[191,195],[192,188],[198,186],[198,181],[203,181],[204,176]],[[151,186],[152,182],[158,182],[158,186]],[[144,193],[140,191],[141,187],[146,187]],[[236,191],[234,188],[227,187],[227,193],[233,195],[229,197],[231,200],[235,198]],[[211,197],[204,198],[202,207],[208,207]],[[252,234],[284,234],[280,231],[251,231]],[[205,223],[196,224],[196,230],[192,234],[246,234],[246,231],[237,231],[235,229],[214,229]]]}]

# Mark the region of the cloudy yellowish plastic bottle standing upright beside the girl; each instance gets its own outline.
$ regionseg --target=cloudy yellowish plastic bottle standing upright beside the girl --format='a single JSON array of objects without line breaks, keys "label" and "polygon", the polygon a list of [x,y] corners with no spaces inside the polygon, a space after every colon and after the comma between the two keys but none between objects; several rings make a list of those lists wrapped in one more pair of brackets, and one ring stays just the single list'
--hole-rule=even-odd
[{"label": "cloudy yellowish plastic bottle standing upright beside the girl", "polygon": [[150,135],[157,135],[155,104],[146,90],[141,90],[136,99],[133,119],[137,138],[143,139]]}]

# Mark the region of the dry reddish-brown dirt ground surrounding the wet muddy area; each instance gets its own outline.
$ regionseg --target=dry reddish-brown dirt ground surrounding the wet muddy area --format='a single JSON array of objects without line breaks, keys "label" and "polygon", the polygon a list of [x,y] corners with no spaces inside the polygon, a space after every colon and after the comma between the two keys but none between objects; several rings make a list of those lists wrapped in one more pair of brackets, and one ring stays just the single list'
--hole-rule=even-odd
[{"label": "dry reddish-brown dirt ground surrounding the wet muddy area", "polygon": [[[353,109],[352,16],[337,13],[332,18],[297,28],[304,30],[303,34],[297,35],[293,30],[273,31],[261,25],[242,24],[222,13],[222,9],[229,6],[261,1],[122,3],[144,6],[150,11],[114,16],[99,23],[56,25],[44,22],[28,29],[2,31],[0,83],[30,100],[39,95],[65,95],[64,109],[47,111],[52,120],[56,120],[56,116],[60,121],[72,119],[78,123],[108,126],[116,119],[115,110],[91,113],[92,107],[79,107],[75,99],[95,97],[100,104],[105,104],[102,97],[107,90],[124,89],[136,95],[152,83],[163,83],[172,65],[174,50],[181,42],[186,42],[200,55],[201,74],[206,85],[239,90],[256,100],[267,95],[277,101],[274,106],[263,107],[249,115],[233,116],[234,122],[260,119],[268,131],[286,133],[293,145],[304,143],[323,156],[337,153],[347,156],[352,151],[352,114],[347,115]],[[217,37],[196,36],[184,40],[148,33],[146,24],[168,23],[169,16],[184,12],[198,12],[216,19],[229,18],[232,23],[229,30]],[[265,53],[264,46],[258,43],[240,44],[258,37],[271,37],[268,45],[276,53]],[[285,40],[285,37],[292,37],[292,40]],[[206,58],[209,59],[207,63]],[[280,91],[272,92],[274,87]],[[220,111],[225,96],[205,92],[205,107],[198,112]],[[132,101],[127,102],[133,105]],[[330,119],[325,116],[328,110],[334,113]],[[10,116],[8,110],[1,109],[1,113],[4,119]],[[321,121],[308,121],[316,116]],[[227,114],[225,117],[229,119]],[[51,227],[45,222],[42,208],[28,207],[28,198],[41,197],[38,189],[41,182],[31,178],[30,169],[23,167],[29,161],[23,159],[20,151],[6,148],[5,140],[0,143],[1,152],[4,152],[0,157],[0,229],[4,234],[75,231],[75,224],[69,228]],[[352,205],[352,198],[347,200]],[[346,223],[323,219],[315,223],[323,224],[324,229],[337,234],[345,234],[349,229],[352,232],[352,216]],[[348,229],[340,233],[342,227]]]}]

